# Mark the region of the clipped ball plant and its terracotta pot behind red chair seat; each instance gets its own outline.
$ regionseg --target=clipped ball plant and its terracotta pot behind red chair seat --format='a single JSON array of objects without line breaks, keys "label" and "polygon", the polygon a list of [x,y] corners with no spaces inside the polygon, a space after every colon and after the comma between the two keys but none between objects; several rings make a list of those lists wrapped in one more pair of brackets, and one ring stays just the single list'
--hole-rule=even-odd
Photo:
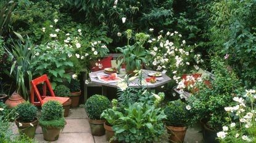
[{"label": "clipped ball plant and its terracotta pot behind red chair seat", "polygon": [[[56,89],[54,90],[54,93],[56,96],[59,96],[59,97],[70,97],[70,89],[65,85],[57,86]],[[72,99],[68,99],[68,101],[63,104],[63,108],[65,110],[64,117],[68,116],[71,104],[72,104]]]}]

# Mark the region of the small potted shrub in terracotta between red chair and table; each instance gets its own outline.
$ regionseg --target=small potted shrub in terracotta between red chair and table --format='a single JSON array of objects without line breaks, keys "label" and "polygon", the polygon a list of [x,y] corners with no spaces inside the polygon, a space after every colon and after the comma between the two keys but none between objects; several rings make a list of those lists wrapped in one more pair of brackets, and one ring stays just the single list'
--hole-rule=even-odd
[{"label": "small potted shrub in terracotta between red chair and table", "polygon": [[79,98],[81,95],[79,80],[71,79],[69,88],[70,88],[70,98],[72,100],[71,107],[77,107],[79,105]]}]

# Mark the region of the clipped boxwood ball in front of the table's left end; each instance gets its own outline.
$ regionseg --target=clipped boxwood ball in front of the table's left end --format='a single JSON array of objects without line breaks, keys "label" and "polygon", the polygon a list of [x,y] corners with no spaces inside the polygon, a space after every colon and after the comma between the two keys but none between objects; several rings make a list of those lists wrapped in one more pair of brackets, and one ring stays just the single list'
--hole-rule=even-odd
[{"label": "clipped boxwood ball in front of the table's left end", "polygon": [[99,119],[105,109],[110,108],[110,101],[103,95],[93,95],[85,103],[89,118]]}]

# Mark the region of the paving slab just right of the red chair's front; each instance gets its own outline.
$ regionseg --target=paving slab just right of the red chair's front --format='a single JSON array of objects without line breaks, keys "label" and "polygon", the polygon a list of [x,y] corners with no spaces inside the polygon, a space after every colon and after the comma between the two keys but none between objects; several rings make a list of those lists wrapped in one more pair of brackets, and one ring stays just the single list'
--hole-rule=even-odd
[{"label": "paving slab just right of the red chair's front", "polygon": [[88,118],[84,107],[71,108],[66,118]]}]

